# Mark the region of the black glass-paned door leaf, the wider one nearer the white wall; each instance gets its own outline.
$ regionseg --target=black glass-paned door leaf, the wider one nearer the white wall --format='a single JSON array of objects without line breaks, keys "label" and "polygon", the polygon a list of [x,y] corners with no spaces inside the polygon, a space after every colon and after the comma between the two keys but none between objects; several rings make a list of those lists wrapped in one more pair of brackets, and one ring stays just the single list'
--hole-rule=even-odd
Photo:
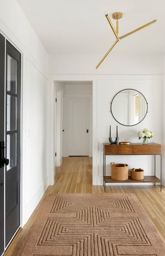
[{"label": "black glass-paned door leaf, the wider one nearer the white wall", "polygon": [[20,226],[21,54],[6,42],[6,246]]}]

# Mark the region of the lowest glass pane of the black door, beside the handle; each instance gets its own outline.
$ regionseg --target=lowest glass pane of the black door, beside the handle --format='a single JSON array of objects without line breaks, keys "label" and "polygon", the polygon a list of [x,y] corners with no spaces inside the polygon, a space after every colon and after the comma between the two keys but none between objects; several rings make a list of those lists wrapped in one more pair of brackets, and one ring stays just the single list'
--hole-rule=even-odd
[{"label": "lowest glass pane of the black door, beside the handle", "polygon": [[9,165],[7,170],[17,165],[17,134],[7,135],[7,158],[9,159]]}]

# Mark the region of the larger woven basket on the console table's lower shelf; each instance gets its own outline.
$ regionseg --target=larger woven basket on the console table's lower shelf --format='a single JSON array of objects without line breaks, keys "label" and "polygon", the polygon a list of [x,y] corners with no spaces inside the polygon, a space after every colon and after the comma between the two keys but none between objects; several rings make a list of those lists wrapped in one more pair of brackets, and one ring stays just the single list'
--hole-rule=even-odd
[{"label": "larger woven basket on the console table's lower shelf", "polygon": [[128,180],[128,164],[127,163],[111,163],[111,178],[116,181]]}]

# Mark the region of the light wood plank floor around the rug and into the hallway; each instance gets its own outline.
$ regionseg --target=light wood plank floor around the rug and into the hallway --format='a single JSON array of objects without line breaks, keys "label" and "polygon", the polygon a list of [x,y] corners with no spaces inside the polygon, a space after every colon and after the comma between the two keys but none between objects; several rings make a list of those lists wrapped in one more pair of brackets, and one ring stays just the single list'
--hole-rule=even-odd
[{"label": "light wood plank floor around the rug and into the hallway", "polygon": [[66,157],[61,167],[56,169],[56,184],[49,186],[33,212],[28,223],[14,239],[5,255],[18,255],[23,240],[34,223],[42,205],[42,200],[50,193],[135,193],[155,227],[165,240],[165,187],[159,186],[92,186],[92,158]]}]

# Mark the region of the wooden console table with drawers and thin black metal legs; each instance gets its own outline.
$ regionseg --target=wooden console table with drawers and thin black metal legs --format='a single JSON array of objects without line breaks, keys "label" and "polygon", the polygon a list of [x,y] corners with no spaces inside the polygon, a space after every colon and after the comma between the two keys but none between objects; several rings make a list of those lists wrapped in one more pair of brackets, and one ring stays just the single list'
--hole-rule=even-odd
[{"label": "wooden console table with drawers and thin black metal legs", "polygon": [[[106,156],[107,155],[154,155],[154,176],[144,176],[143,180],[132,180],[128,177],[126,181],[116,181],[111,176],[106,176]],[[160,179],[156,177],[156,155],[160,155]],[[131,143],[130,145],[119,145],[103,143],[103,186],[105,191],[106,183],[141,183],[141,182],[153,182],[160,183],[161,191],[161,144],[149,143],[143,145],[142,143]]]}]

